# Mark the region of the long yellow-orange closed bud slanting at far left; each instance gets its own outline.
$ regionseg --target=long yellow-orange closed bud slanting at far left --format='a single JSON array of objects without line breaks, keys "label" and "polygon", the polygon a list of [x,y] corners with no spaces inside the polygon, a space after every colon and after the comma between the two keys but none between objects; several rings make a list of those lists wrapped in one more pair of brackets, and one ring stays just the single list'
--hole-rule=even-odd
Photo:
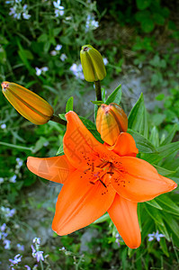
[{"label": "long yellow-orange closed bud slanting at far left", "polygon": [[38,94],[14,83],[4,82],[1,85],[4,96],[15,110],[34,124],[44,124],[53,115],[53,108]]}]

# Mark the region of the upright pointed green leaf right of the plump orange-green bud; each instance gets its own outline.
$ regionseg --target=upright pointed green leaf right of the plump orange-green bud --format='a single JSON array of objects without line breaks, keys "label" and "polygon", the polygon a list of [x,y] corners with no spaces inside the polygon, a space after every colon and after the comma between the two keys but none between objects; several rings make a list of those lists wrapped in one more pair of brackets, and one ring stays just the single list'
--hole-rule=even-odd
[{"label": "upright pointed green leaf right of the plump orange-green bud", "polygon": [[142,93],[130,112],[128,127],[130,130],[138,131],[141,135],[148,138],[148,115]]}]

